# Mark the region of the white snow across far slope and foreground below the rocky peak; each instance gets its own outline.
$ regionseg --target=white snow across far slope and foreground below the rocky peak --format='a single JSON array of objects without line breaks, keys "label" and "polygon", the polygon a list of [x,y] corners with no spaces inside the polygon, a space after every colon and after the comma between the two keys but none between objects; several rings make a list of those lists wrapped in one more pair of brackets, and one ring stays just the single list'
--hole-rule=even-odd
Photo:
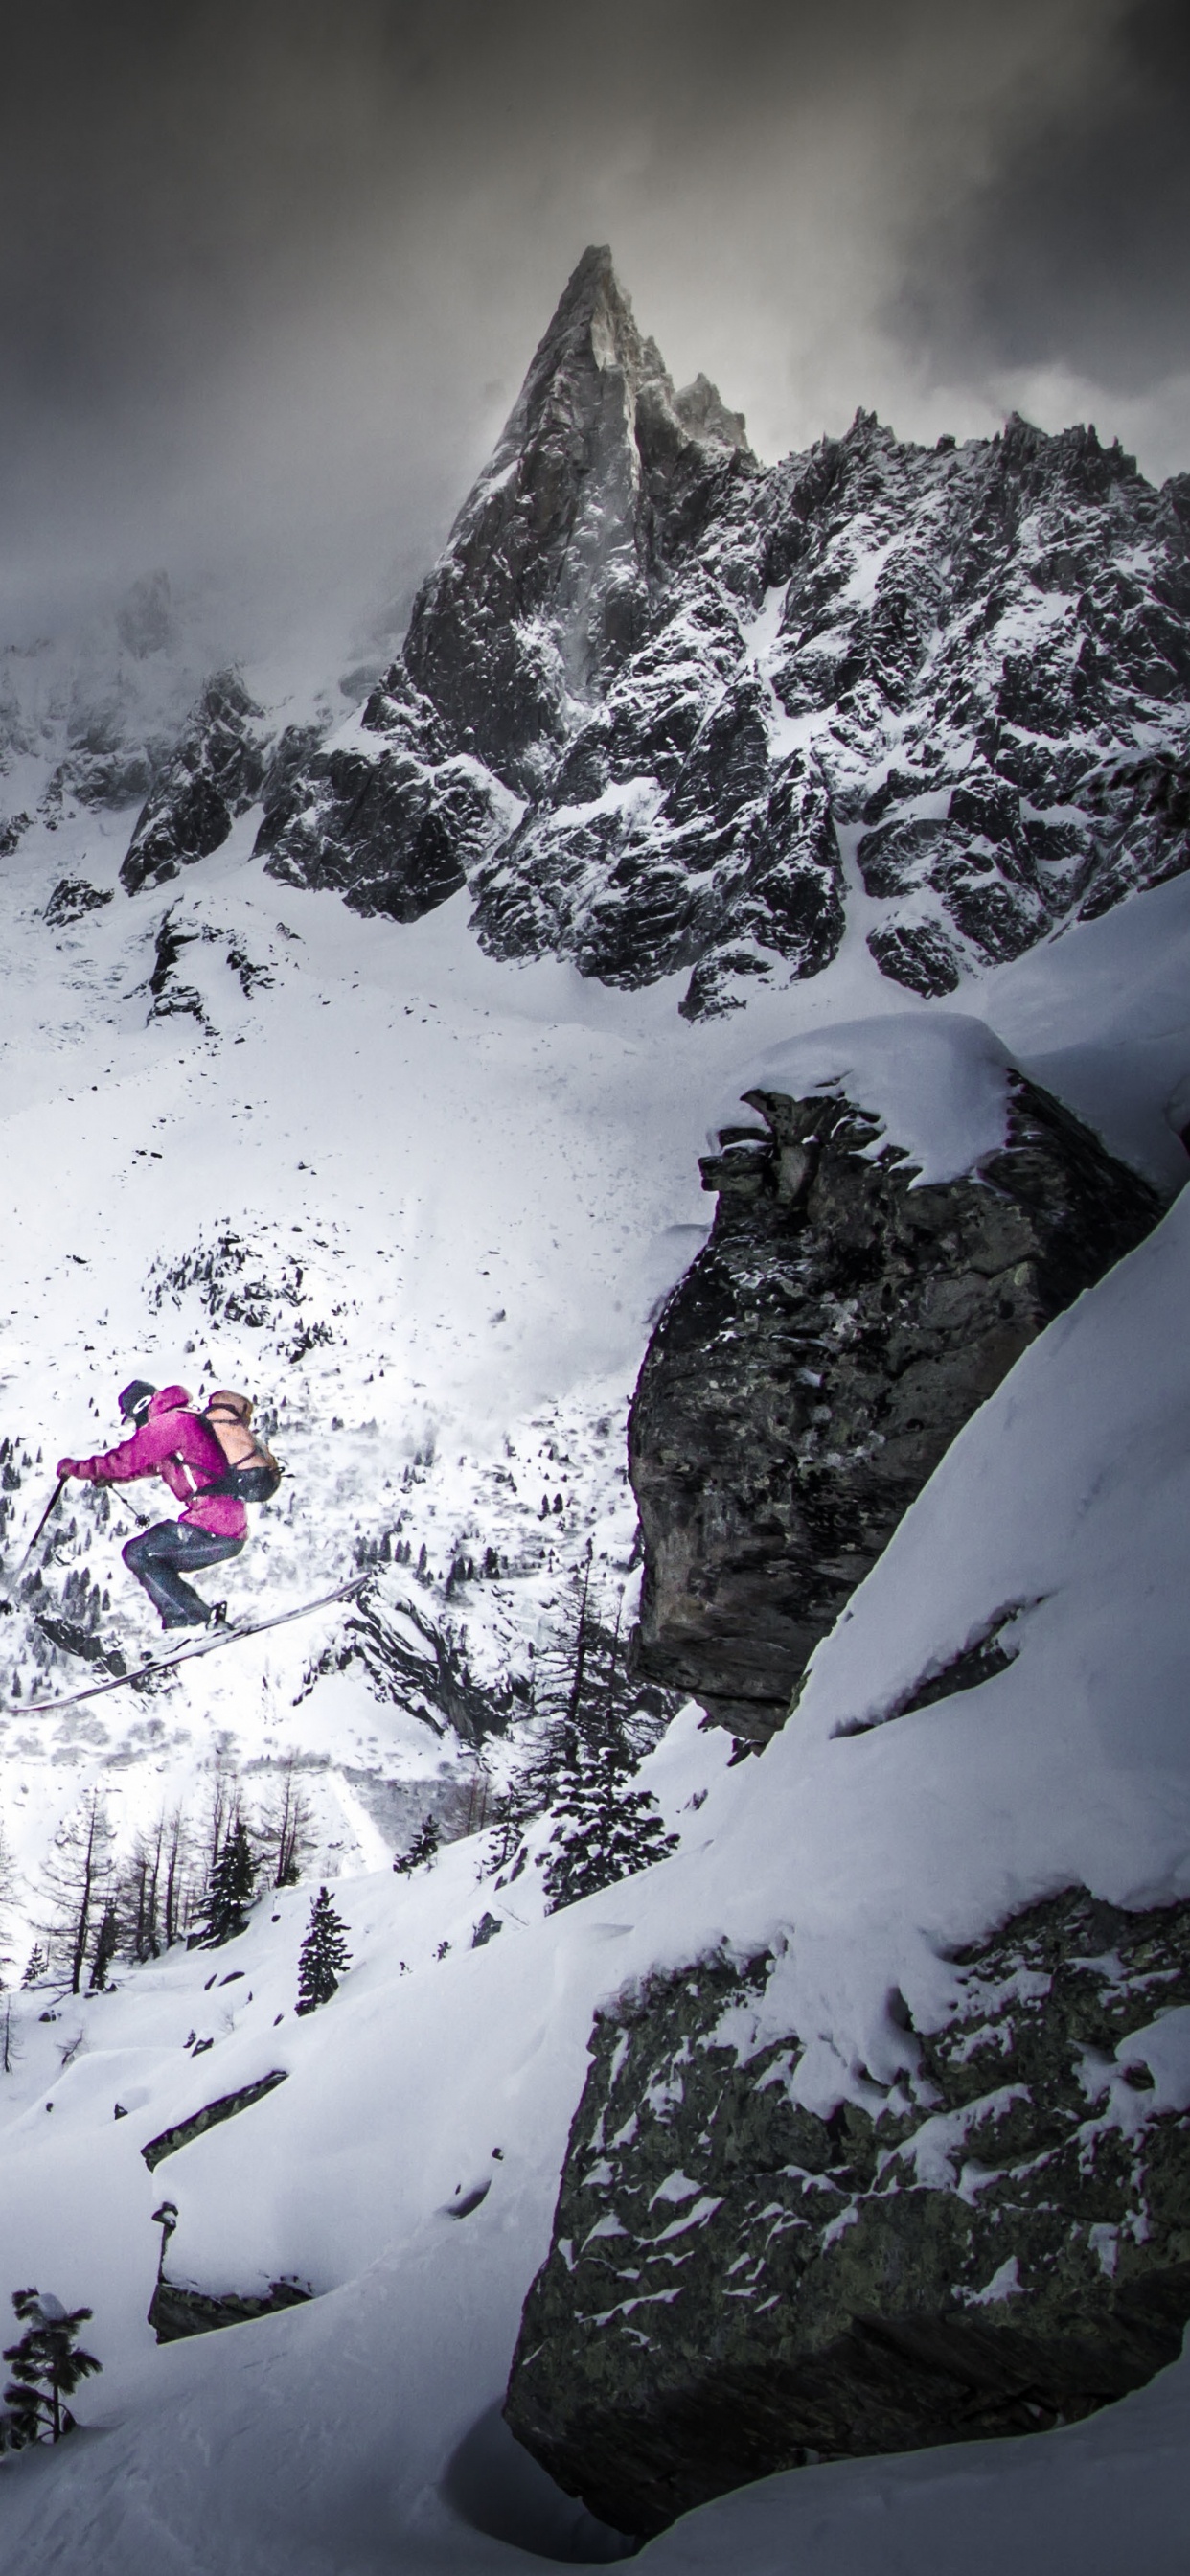
[{"label": "white snow across far slope and foreground below the rocky peak", "polygon": [[[708,1123],[765,1079],[765,1059],[775,1079],[773,1048],[793,1038],[801,1061],[837,1023],[940,1012],[847,940],[811,984],[690,1028],[683,979],[618,994],[564,966],[487,961],[466,896],[397,927],[273,886],[250,855],[255,817],[214,860],[129,902],[126,822],[36,827],[0,873],[0,1432],[33,1461],[5,1564],[54,1458],[116,1440],[124,1378],[247,1383],[288,1473],[206,1589],[227,1584],[234,1615],[263,1613],[345,1579],[358,1538],[399,1535],[412,1564],[425,1543],[425,1584],[386,1569],[389,1607],[404,1584],[466,1623],[479,1677],[525,1672],[587,1540],[603,1600],[623,1592],[631,1607],[623,1414],[649,1311],[711,1216],[695,1162]],[[116,899],[49,933],[39,909],[75,871]],[[165,912],[188,935],[165,994],[193,1002],[149,1018]],[[1164,1110],[1190,1074],[1187,966],[1190,886],[1175,881],[968,981],[948,1012],[987,1020],[1175,1190],[1185,1154]],[[850,1028],[824,1038],[811,1079],[837,1069],[842,1043],[855,1051]],[[979,1054],[979,1033],[971,1043]],[[889,1074],[889,1118],[902,1097]],[[211,1324],[198,1288],[152,1306],[162,1273],[224,1229],[250,1247],[242,1278],[273,1283],[268,1319]],[[1115,1904],[1187,1891],[1185,1239],[1175,1206],[1023,1358],[760,1762],[726,1770],[726,1736],[695,1710],[675,1721],[644,1777],[680,1852],[559,1917],[541,1917],[533,1865],[495,1893],[474,1837],[415,1880],[392,1875],[384,1785],[417,1798],[466,1783],[474,1757],[376,1700],[361,1664],[317,1674],[322,1646],[343,1641],[337,1613],[312,1623],[317,1638],[247,1641],[152,1698],[5,1721],[3,1821],[26,1904],[54,1824],[90,1785],[126,1839],[175,1798],[198,1808],[219,1747],[247,1788],[301,1754],[319,1850],[304,1886],[219,1953],[118,1965],[103,1996],[13,1996],[0,2287],[36,2280],[88,2300],[103,2378],[64,2452],[3,2465],[3,2571],[495,2576],[616,2555],[495,2419],[595,2004],[659,1960],[773,1940],[762,2012],[817,2035],[806,2066],[837,2099],[891,2076],[889,1989],[917,2020],[940,2017],[945,1950],[1005,1909],[1077,1875]],[[296,1324],[327,1340],[288,1360]],[[562,1512],[543,1520],[554,1494]],[[129,1492],[137,1507],[147,1497]],[[70,1486],[49,1582],[88,1564],[111,1584],[103,1633],[152,1646],[118,1564],[126,1528],[116,1497],[103,1528],[95,1497]],[[446,1605],[453,1553],[487,1543],[502,1574]],[[871,1723],[1025,1595],[1046,1600],[1005,1674],[961,1705]],[[0,1698],[15,1674],[28,1695],[33,1677],[67,1687],[77,1664],[33,1664],[28,1628],[5,1620]],[[855,1723],[871,1731],[847,1734]],[[296,2022],[319,1875],[353,1968]],[[487,1909],[502,1932],[471,1950]],[[10,1909],[18,1953],[33,1914]],[[288,2081],[268,2099],[147,2172],[147,2138],[273,2066]],[[1162,2084],[1190,2097],[1172,2043]],[[453,2218],[482,2182],[482,2202]],[[206,2290],[296,2277],[312,2306],[157,2349],[144,2311],[162,2197],[180,2210],[170,2277]],[[1012,2555],[1023,2576],[1061,2563],[1175,2576],[1185,2416],[1182,2365],[1046,2439],[762,2481],[688,2517],[644,2563],[999,2576]]]}]

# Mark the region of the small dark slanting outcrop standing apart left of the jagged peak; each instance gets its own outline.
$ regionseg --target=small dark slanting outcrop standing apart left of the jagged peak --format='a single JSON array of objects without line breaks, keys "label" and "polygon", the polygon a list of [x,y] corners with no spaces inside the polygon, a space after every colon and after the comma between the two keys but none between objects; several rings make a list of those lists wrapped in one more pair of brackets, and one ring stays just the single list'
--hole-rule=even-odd
[{"label": "small dark slanting outcrop standing apart left of the jagged peak", "polygon": [[265,778],[263,708],[240,672],[206,683],[191,724],[157,773],[121,866],[121,886],[165,886],[183,866],[209,858]]}]

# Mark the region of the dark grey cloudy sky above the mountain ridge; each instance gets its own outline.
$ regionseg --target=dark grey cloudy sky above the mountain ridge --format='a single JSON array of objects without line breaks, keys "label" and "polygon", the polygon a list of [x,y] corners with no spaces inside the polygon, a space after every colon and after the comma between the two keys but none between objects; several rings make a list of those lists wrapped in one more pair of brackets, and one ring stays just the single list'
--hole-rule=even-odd
[{"label": "dark grey cloudy sky above the mountain ridge", "polygon": [[410,580],[582,247],[762,456],[1190,466],[1180,0],[0,0],[0,626]]}]

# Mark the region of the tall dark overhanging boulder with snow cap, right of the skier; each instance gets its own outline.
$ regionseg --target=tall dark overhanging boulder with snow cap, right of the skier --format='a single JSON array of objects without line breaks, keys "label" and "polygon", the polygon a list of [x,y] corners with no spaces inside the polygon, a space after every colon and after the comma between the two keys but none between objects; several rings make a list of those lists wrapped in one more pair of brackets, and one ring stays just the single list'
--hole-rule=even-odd
[{"label": "tall dark overhanging boulder with snow cap, right of the skier", "polygon": [[747,1100],[765,1126],[703,1162],[719,1211],[649,1342],[628,1471],[639,1664],[762,1741],[961,1425],[1162,1206],[1020,1074],[1007,1146],[920,1188],[850,1100]]}]

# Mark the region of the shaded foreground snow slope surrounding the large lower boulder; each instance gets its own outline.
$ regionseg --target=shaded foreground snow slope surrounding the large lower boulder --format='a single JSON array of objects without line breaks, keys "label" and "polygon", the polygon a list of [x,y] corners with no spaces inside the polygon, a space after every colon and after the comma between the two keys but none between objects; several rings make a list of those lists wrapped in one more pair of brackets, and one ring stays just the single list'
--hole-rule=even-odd
[{"label": "shaded foreground snow slope surrounding the large lower boulder", "polygon": [[[610,2548],[541,2499],[487,2421],[546,2244],[595,2002],[657,1960],[778,1940],[768,2012],[819,2032],[801,2092],[824,2107],[894,2079],[904,2035],[886,2012],[891,1984],[920,2025],[943,2020],[943,1947],[1007,1906],[1066,1878],[1115,1904],[1185,1893],[1185,1610],[1169,1577],[1190,1473],[1177,1437],[1187,1229],[1177,1206],[963,1432],[762,1762],[724,1770],[726,1741],[680,1721],[649,1762],[683,1826],[675,1860],[549,1922],[518,1896],[500,1940],[471,1950],[482,1906],[502,1901],[477,1886],[474,1844],[456,1842],[412,1886],[386,1873],[340,1888],[358,1965],[307,2025],[291,2014],[294,1891],[242,1942],[134,1971],[52,2032],[28,2027],[28,2058],[8,2079],[21,2110],[5,2138],[5,2251],[18,2272],[54,2264],[70,2295],[88,2277],[108,2375],[82,2442],[5,2470],[0,2566],[21,2566],[33,2535],[41,2563],[134,2576],[162,2553],[180,2568],[363,2571],[525,2563],[515,2543],[559,2558]],[[1113,1386],[1097,1414],[1084,1406],[1090,1370]],[[1030,1481],[1038,1425],[1046,1473]],[[1051,1597],[1010,1672],[958,1705],[840,1731],[878,1713],[878,1687],[950,1651],[992,1595],[1010,1597],[1023,1558]],[[1115,1615],[1090,1620],[1105,1564]],[[1154,1600],[1167,1605],[1157,1638]],[[206,1994],[211,1971],[229,1968],[242,2004],[222,2004],[219,1984]],[[1190,2099],[1185,2020],[1157,2017],[1126,2043],[1167,2107]],[[183,2025],[216,2040],[201,2071],[183,2063]],[[46,2074],[77,2027],[70,2069]],[[268,2066],[288,2081],[144,2172],[147,2136]],[[116,2099],[129,2102],[118,2123]],[[1097,2117],[1133,2112],[1120,2074]],[[453,2218],[482,2184],[479,2205]],[[325,2295],[147,2349],[137,2311],[162,2187],[180,2208],[173,2277],[252,2287],[294,2275]],[[922,2548],[943,2568],[958,2555],[992,2568],[1012,2545],[1041,2571],[1074,2512],[1079,2563],[1110,2576],[1128,2530],[1144,2566],[1172,2571],[1182,2375],[1038,2445],[770,2481],[690,2517],[652,2555],[845,2576],[914,2566]]]}]

